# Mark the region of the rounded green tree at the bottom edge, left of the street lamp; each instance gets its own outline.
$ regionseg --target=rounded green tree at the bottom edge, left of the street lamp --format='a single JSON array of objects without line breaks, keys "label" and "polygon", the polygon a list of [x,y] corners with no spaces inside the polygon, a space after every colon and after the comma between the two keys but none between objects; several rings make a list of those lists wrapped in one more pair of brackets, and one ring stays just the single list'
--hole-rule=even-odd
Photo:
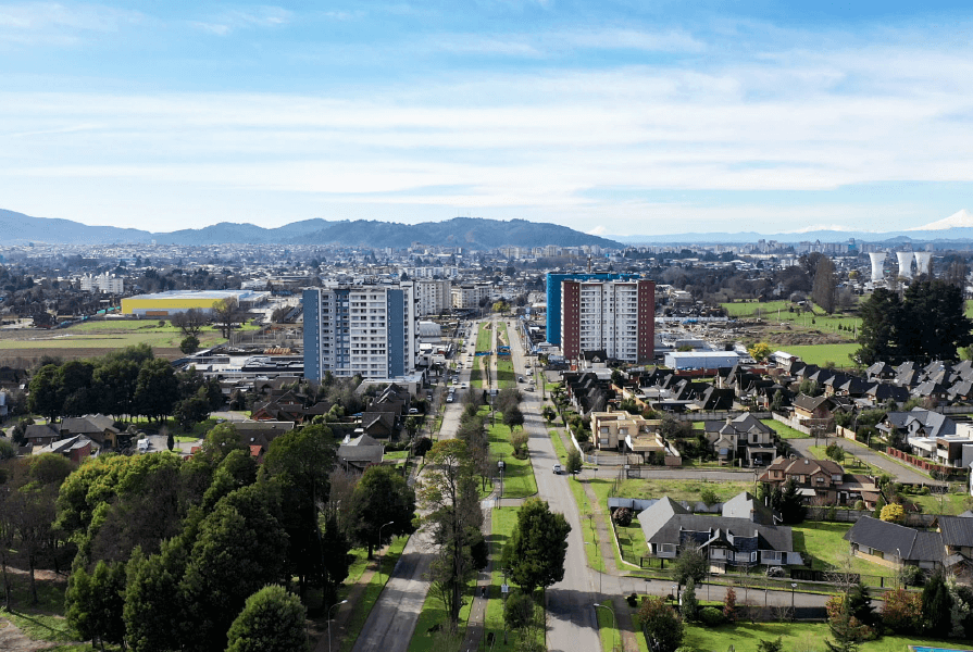
[{"label": "rounded green tree at the bottom edge, left of the street lamp", "polygon": [[247,598],[229,626],[226,652],[290,652],[308,649],[307,610],[294,593],[271,585]]}]

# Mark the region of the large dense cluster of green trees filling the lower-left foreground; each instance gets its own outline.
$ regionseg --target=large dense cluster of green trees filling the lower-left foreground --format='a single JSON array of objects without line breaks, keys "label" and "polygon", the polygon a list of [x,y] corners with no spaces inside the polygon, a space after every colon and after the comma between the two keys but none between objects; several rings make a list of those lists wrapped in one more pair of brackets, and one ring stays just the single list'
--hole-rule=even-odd
[{"label": "large dense cluster of green trees filling the lower-left foreground", "polygon": [[[264,587],[296,577],[334,602],[351,546],[326,507],[334,462],[330,431],[309,426],[276,438],[258,468],[225,424],[188,462],[90,461],[61,486],[53,523],[77,547],[68,620],[136,651],[248,649],[228,632],[247,639],[267,611],[302,624],[299,603]],[[251,619],[235,624],[245,607]]]}]

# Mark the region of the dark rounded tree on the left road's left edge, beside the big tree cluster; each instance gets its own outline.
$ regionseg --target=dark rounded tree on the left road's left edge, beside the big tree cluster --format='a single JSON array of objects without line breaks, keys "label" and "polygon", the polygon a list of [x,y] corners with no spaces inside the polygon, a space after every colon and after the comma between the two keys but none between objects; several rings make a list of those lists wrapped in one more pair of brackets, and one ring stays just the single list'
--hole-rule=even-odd
[{"label": "dark rounded tree on the left road's left edge, beside the big tree cluster", "polygon": [[369,559],[376,546],[411,534],[414,517],[415,492],[406,478],[391,466],[367,467],[351,494],[349,532],[358,546],[369,549]]}]

